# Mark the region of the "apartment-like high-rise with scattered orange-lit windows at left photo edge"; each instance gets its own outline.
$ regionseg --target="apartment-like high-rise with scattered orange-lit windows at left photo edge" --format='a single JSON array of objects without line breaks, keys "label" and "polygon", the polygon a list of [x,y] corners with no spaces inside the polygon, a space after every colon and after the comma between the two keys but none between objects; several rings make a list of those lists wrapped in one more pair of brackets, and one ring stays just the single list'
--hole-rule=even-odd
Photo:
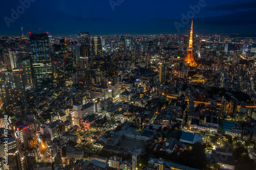
[{"label": "apartment-like high-rise with scattered orange-lit windows at left photo edge", "polygon": [[22,70],[0,73],[0,92],[5,113],[20,115],[27,110],[27,98]]}]

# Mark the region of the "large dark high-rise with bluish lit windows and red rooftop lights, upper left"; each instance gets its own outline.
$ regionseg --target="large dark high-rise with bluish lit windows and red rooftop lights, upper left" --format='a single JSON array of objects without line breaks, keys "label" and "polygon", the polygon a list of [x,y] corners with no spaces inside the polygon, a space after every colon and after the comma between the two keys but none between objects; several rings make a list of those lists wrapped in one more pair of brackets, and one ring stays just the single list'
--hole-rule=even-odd
[{"label": "large dark high-rise with bluish lit windows and red rooftop lights, upper left", "polygon": [[52,65],[48,33],[30,33],[35,88],[49,88],[52,84]]}]

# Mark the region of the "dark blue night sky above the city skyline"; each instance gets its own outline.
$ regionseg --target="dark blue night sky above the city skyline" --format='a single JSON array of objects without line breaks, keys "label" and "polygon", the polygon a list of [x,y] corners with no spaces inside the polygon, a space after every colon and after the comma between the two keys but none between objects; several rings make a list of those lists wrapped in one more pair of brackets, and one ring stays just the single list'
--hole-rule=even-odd
[{"label": "dark blue night sky above the city skyline", "polygon": [[[22,0],[25,1],[25,0]],[[32,0],[31,0],[32,1]],[[25,12],[7,27],[4,17],[11,18],[11,9],[17,11],[18,0],[1,1],[0,35],[20,35],[20,24],[28,34],[41,28],[50,35],[70,35],[90,31],[99,34],[182,34],[189,33],[190,22],[176,29],[181,14],[198,5],[191,0],[111,0],[118,3],[114,10],[109,0],[33,0]],[[203,0],[200,0],[203,1]],[[194,15],[194,32],[204,33],[256,33],[255,0],[205,0],[205,7]]]}]

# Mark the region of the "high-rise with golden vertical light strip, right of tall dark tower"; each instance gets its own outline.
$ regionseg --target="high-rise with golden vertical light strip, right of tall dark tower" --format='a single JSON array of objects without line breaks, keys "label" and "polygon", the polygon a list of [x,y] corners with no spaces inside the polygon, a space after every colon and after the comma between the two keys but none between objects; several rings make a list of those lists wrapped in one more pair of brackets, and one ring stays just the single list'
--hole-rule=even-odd
[{"label": "high-rise with golden vertical light strip, right of tall dark tower", "polygon": [[91,41],[92,60],[103,58],[102,43],[100,37],[93,37]]}]

